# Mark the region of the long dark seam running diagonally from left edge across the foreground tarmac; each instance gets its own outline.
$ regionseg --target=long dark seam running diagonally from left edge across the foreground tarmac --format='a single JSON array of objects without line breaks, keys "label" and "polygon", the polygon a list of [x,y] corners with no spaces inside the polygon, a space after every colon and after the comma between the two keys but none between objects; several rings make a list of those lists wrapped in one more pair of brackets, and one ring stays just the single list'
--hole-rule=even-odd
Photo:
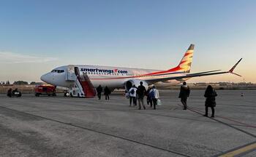
[{"label": "long dark seam running diagonally from left edge across the foreground tarmac", "polygon": [[55,120],[55,119],[52,119],[52,118],[46,118],[46,117],[43,117],[43,116],[37,116],[37,115],[34,115],[34,114],[31,114],[31,113],[26,113],[26,112],[23,112],[23,111],[20,111],[20,110],[14,110],[14,109],[11,109],[11,108],[6,108],[4,106],[0,106],[0,108],[5,108],[7,110],[13,110],[15,112],[19,112],[19,113],[24,113],[24,114],[27,114],[27,115],[30,115],[30,116],[35,116],[35,117],[39,117],[39,118],[43,118],[43,119],[46,119],[48,121],[55,121],[57,123],[60,123],[60,124],[66,124],[66,125],[69,125],[69,126],[74,126],[74,127],[77,127],[77,128],[80,128],[80,129],[85,129],[85,130],[89,130],[91,132],[97,132],[99,134],[105,134],[105,135],[108,135],[110,137],[116,137],[118,139],[121,139],[121,140],[127,140],[129,142],[135,142],[137,144],[140,144],[140,145],[146,145],[148,147],[151,147],[151,148],[156,148],[158,150],[164,150],[166,152],[169,152],[169,153],[174,153],[174,154],[177,154],[179,156],[187,156],[187,157],[191,157],[191,156],[188,156],[186,154],[183,154],[183,153],[178,153],[176,151],[173,151],[173,150],[167,150],[165,148],[159,148],[155,145],[151,145],[151,144],[147,144],[147,143],[143,143],[143,142],[139,142],[139,141],[136,141],[136,140],[132,140],[132,139],[129,139],[129,138],[126,138],[126,137],[121,137],[121,136],[118,136],[118,135],[115,135],[115,134],[109,134],[109,133],[106,133],[106,132],[100,132],[100,131],[97,131],[97,130],[94,130],[94,129],[90,129],[90,128],[87,128],[87,127],[84,127],[84,126],[78,126],[78,125],[75,125],[75,124],[71,124],[71,123],[67,123],[67,122],[64,122],[64,121],[59,121],[59,120]]}]

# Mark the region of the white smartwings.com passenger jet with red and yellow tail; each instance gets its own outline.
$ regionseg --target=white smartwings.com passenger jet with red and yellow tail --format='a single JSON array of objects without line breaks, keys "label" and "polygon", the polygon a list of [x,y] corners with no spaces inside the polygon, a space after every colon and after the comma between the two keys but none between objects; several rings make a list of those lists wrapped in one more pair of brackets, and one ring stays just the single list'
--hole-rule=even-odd
[{"label": "white smartwings.com passenger jet with red and yellow tail", "polygon": [[[242,60],[242,58],[238,60],[229,71],[216,70],[190,73],[194,47],[194,44],[190,44],[180,63],[176,67],[165,71],[99,65],[64,65],[54,68],[50,73],[42,75],[40,79],[54,86],[67,87],[69,93],[73,96],[85,97],[86,92],[89,93],[86,89],[94,89],[99,85],[102,87],[108,86],[111,90],[129,90],[132,85],[138,86],[142,81],[143,86],[147,89],[149,85],[159,82],[180,84],[193,77],[233,73],[238,63]],[[237,73],[233,74],[240,76]]]}]

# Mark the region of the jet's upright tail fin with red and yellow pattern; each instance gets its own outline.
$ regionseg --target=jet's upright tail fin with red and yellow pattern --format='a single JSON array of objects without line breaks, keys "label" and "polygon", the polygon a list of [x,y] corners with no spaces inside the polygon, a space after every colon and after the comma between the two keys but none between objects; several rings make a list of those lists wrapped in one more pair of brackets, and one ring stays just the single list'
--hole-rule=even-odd
[{"label": "jet's upright tail fin with red and yellow pattern", "polygon": [[192,64],[194,47],[195,47],[195,44],[190,44],[189,49],[187,49],[187,52],[184,54],[183,58],[181,59],[181,62],[178,64],[178,66],[176,66],[176,68],[171,68],[168,71],[182,71],[185,73],[189,73],[190,67]]}]

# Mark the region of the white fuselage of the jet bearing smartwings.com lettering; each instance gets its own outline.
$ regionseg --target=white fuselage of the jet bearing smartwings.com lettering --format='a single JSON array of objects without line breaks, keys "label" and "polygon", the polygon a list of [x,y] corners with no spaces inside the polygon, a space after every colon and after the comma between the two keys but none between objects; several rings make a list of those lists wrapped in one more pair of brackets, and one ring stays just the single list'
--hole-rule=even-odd
[{"label": "white fuselage of the jet bearing smartwings.com lettering", "polygon": [[[119,68],[110,66],[99,66],[99,65],[66,65],[59,68],[53,69],[50,73],[46,73],[41,76],[41,80],[48,84],[55,86],[72,87],[74,82],[68,81],[67,73],[68,68],[77,67],[80,71],[80,76],[86,73],[89,76],[91,83],[94,87],[99,85],[108,86],[110,89],[120,89],[125,87],[127,81],[146,81],[150,79],[165,78],[170,76],[181,76],[184,73],[162,73],[157,75],[157,71],[151,69],[140,69],[140,68]],[[170,80],[168,83],[178,84],[180,81]]]}]

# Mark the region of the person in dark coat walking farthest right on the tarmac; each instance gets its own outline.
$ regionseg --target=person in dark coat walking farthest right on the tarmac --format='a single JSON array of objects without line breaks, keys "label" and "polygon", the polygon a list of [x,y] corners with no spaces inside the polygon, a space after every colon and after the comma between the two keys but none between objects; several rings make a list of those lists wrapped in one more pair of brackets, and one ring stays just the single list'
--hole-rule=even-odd
[{"label": "person in dark coat walking farthest right on the tarmac", "polygon": [[204,97],[206,97],[206,114],[203,116],[208,116],[208,108],[211,108],[211,117],[214,118],[214,108],[216,106],[215,97],[217,97],[217,92],[213,89],[211,85],[207,86]]}]

